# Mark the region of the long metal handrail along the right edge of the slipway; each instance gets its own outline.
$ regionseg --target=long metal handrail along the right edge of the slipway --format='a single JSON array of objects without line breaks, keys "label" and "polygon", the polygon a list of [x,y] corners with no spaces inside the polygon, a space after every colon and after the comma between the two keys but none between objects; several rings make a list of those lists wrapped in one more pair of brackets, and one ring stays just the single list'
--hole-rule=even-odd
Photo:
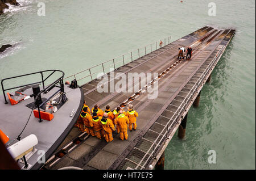
[{"label": "long metal handrail along the right edge of the slipway", "polygon": [[[168,132],[170,132],[171,128],[172,128],[172,124],[174,123],[177,123],[177,120],[178,118],[181,116],[181,113],[183,112],[184,110],[184,107],[186,107],[188,105],[188,102],[191,100],[191,96],[193,95],[193,93],[196,91],[197,87],[201,84],[201,82],[203,81],[203,78],[202,77],[205,77],[205,75],[208,73],[209,69],[212,68],[212,65],[214,64],[214,62],[216,62],[217,58],[220,57],[220,54],[222,52],[222,50],[224,49],[224,46],[222,46],[222,48],[219,50],[218,54],[216,54],[216,56],[213,58],[213,61],[210,62],[210,64],[207,66],[207,68],[204,70],[203,74],[201,74],[201,76],[199,77],[199,79],[197,79],[195,85],[192,87],[192,89],[188,92],[187,96],[185,96],[185,99],[183,100],[183,102],[181,102],[180,106],[177,108],[177,110],[175,111],[174,115],[172,115],[172,117],[170,118],[170,120],[168,121],[168,123],[164,126],[164,128],[162,129],[162,131],[159,133],[158,137],[155,139],[158,140],[158,138],[160,137],[160,135],[165,135],[166,136],[163,136],[159,142],[162,142],[163,138],[166,137],[167,138],[167,134]],[[190,94],[190,95],[189,95]],[[185,101],[185,102],[184,102]],[[184,106],[182,106],[182,104],[184,103]],[[182,107],[181,107],[182,106]],[[176,115],[175,119],[174,116]],[[176,120],[175,121],[172,121],[172,124],[169,126],[171,120]],[[166,133],[163,133],[163,131],[166,129],[167,127],[167,131]],[[150,146],[150,148],[148,149],[148,151],[151,150],[152,146],[155,148],[155,141],[153,142],[153,144]],[[159,144],[157,144],[159,145]],[[143,166],[141,166],[141,162],[143,161],[144,157],[146,156],[146,154],[144,155],[144,157],[142,158],[141,162],[138,163],[137,167],[138,166],[141,166],[141,167],[145,167],[145,165],[147,164],[148,162],[148,159],[153,157],[154,158],[154,155],[155,155],[155,152],[156,152],[157,149],[153,149],[152,150],[152,153],[149,154],[148,151],[147,151],[147,154],[149,154],[150,156],[147,158],[147,160],[144,162]],[[135,167],[135,169],[137,169],[137,167]]]}]

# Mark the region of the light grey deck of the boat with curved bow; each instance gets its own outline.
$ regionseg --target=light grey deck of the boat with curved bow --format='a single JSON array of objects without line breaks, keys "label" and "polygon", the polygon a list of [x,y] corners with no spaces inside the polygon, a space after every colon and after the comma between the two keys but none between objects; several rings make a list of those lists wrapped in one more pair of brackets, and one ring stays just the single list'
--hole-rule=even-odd
[{"label": "light grey deck of the boat with curved bow", "polygon": [[[42,94],[42,99],[49,98],[52,92],[56,90],[57,88],[55,87],[47,94]],[[46,153],[46,160],[51,157],[53,152],[59,147],[73,128],[84,102],[81,89],[70,89],[65,85],[64,90],[66,91],[68,101],[63,104],[57,112],[53,113],[53,119],[51,121],[43,120],[39,123],[39,119],[32,113],[26,128],[20,136],[21,139],[23,139],[30,134],[35,134],[38,138],[38,145],[35,146],[35,149],[37,151],[43,150]],[[32,88],[22,93],[31,95]],[[11,105],[10,103],[5,104],[5,99],[3,96],[0,96],[0,128],[10,138],[6,145],[13,145],[18,141],[16,137],[22,132],[31,113],[31,108],[28,108],[26,105],[33,102],[34,97],[22,100],[15,105]],[[73,109],[75,113],[70,117]],[[40,169],[40,167],[43,166],[37,162],[42,152],[40,152],[41,154],[37,154],[37,151],[27,159],[27,163],[32,166],[31,169]],[[22,167],[23,163],[19,161],[18,165]]]}]

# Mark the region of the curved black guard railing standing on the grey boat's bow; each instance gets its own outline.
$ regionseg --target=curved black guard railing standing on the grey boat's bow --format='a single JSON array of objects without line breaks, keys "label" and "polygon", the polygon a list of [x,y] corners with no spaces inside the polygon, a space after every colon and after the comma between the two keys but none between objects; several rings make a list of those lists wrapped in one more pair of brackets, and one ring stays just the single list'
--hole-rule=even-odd
[{"label": "curved black guard railing standing on the grey boat's bow", "polygon": [[[51,71],[52,71],[52,72],[51,72]],[[47,87],[45,87],[45,82],[46,82],[46,80],[47,80],[49,77],[51,77],[51,75],[52,75],[53,73],[55,73],[56,71],[62,73],[61,77],[57,78],[56,81],[50,83]],[[44,78],[44,73],[46,73],[46,72],[50,72],[50,74],[49,74],[46,78]],[[42,78],[42,81],[33,82],[33,83],[28,83],[28,84],[26,84],[26,85],[19,85],[19,86],[11,87],[11,88],[8,88],[8,89],[5,89],[4,86],[3,86],[3,82],[4,82],[4,81],[6,82],[7,80],[10,80],[10,79],[15,79],[15,78],[19,78],[19,77],[26,77],[26,76],[28,76],[28,75],[34,75],[34,74],[40,74],[40,76],[41,76],[41,78]],[[65,75],[65,73],[64,73],[63,71],[61,71],[61,70],[44,70],[44,71],[37,71],[37,72],[34,72],[34,73],[30,73],[30,74],[23,74],[23,75],[18,75],[18,76],[15,76],[15,77],[9,77],[9,78],[1,79],[1,86],[2,86],[2,91],[3,91],[3,96],[4,96],[4,98],[5,98],[5,104],[8,103],[8,102],[7,102],[7,99],[6,99],[5,91],[7,91],[7,90],[13,90],[13,89],[18,89],[18,88],[20,88],[20,87],[25,87],[25,86],[36,85],[36,84],[38,84],[38,83],[42,83],[42,85],[43,85],[43,90],[40,91],[40,92],[38,93],[38,95],[42,94],[42,92],[47,93],[48,91],[50,91],[51,89],[53,89],[53,87],[59,87],[60,90],[62,90],[62,91],[64,92],[64,87],[61,86],[61,83],[63,84],[64,75]],[[57,83],[60,83],[60,86],[57,86],[57,85],[56,85]],[[58,91],[58,92],[59,92],[59,91]],[[55,94],[57,94],[57,93],[55,93]],[[54,94],[54,95],[55,95],[55,94]],[[34,95],[35,98],[37,98],[38,95]]]}]

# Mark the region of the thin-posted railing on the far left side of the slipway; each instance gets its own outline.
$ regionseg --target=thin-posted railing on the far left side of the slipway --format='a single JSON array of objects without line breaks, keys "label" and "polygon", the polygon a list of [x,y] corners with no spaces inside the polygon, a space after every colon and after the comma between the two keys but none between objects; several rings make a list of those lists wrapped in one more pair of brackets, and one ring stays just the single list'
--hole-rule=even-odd
[{"label": "thin-posted railing on the far left side of the slipway", "polygon": [[[162,41],[163,43],[162,47],[170,44],[170,40],[171,40],[171,36],[164,38]],[[78,73],[65,77],[64,79],[73,77],[78,82],[78,81],[81,81],[82,79],[88,78],[87,81],[85,82],[85,83],[88,83],[93,79],[97,78],[98,73],[108,74],[112,68],[117,69],[123,65],[129,64],[130,62],[133,62],[134,60],[137,60],[138,58],[141,58],[146,54],[151,53],[160,48],[161,48],[160,40],[155,41],[154,43],[148,44],[142,48],[132,50],[128,53],[122,54],[121,56],[115,57],[111,60],[95,65],[89,69],[79,71]]]}]

